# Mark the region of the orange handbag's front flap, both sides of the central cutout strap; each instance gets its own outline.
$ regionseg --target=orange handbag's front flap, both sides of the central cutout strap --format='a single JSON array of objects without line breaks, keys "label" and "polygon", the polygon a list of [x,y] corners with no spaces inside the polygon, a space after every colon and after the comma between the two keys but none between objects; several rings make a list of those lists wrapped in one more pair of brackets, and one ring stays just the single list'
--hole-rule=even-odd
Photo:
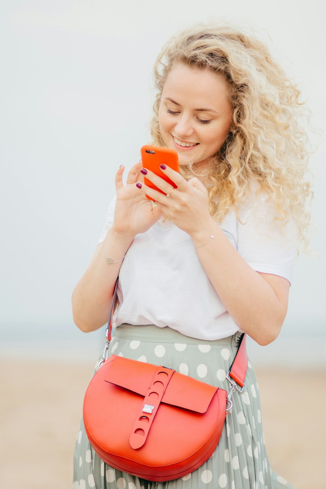
[{"label": "orange handbag's front flap, both sides of the central cutout strap", "polygon": [[[110,361],[115,356],[113,361]],[[104,380],[145,397],[158,365],[112,355]],[[106,362],[101,368],[105,366]],[[218,387],[185,374],[174,372],[166,386],[161,402],[205,413]]]}]

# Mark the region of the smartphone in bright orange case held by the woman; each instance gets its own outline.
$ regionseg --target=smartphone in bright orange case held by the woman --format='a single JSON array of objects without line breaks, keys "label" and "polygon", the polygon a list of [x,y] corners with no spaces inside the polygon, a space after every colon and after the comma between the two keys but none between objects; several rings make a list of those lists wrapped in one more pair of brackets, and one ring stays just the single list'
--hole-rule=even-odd
[{"label": "smartphone in bright orange case held by the woman", "polygon": [[[177,185],[173,181],[171,181],[170,178],[168,178],[160,168],[160,165],[162,163],[165,163],[167,166],[170,166],[173,170],[180,173],[179,156],[176,150],[171,148],[164,148],[162,146],[152,146],[150,144],[145,144],[141,147],[140,153],[143,168],[148,168],[148,170],[156,173],[156,175],[170,183],[174,188],[177,188]],[[154,185],[153,182],[148,180],[148,178],[146,178],[145,176],[143,177],[145,185],[155,190],[158,190],[158,192],[161,192],[161,194],[166,195],[161,189],[157,188],[157,186]],[[156,202],[156,200],[152,199],[152,197],[149,197],[149,195],[145,194],[145,196],[147,197],[147,199]]]}]

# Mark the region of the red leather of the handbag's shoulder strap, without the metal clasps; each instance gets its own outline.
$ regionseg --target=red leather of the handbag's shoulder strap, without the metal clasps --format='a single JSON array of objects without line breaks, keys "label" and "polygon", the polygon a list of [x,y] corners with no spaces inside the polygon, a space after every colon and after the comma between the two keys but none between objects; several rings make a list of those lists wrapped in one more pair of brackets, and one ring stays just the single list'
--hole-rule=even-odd
[{"label": "red leather of the handbag's shoulder strap, without the metal clasps", "polygon": [[[111,341],[112,319],[113,319],[113,314],[114,314],[114,310],[115,310],[115,303],[116,303],[116,299],[117,299],[116,289],[117,289],[118,280],[119,280],[119,276],[116,279],[116,286],[115,286],[115,291],[113,294],[110,317],[109,317],[108,325],[106,328],[106,333],[107,333],[107,337],[108,337],[109,341]],[[248,367],[248,356],[247,356],[247,350],[246,350],[246,337],[247,337],[247,333],[242,333],[241,340],[240,340],[240,343],[238,346],[238,350],[236,352],[236,355],[234,356],[233,362],[232,362],[231,367],[229,369],[230,377],[232,377],[233,380],[240,387],[244,386],[244,381],[245,381],[245,377],[246,377],[246,373],[247,373],[247,367]],[[149,404],[150,404],[150,402],[149,402]]]}]

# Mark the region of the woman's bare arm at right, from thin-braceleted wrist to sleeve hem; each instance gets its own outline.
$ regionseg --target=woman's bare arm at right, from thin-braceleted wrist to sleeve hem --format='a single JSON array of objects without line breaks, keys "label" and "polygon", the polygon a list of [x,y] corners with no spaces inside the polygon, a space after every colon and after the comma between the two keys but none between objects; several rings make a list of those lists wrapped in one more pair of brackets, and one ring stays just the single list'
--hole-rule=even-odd
[{"label": "woman's bare arm at right, from thin-braceleted wrist to sleeve hem", "polygon": [[[198,257],[225,308],[240,328],[259,345],[268,345],[279,335],[287,312],[290,283],[256,272],[242,258],[210,217],[190,235]],[[273,284],[273,287],[272,285]]]}]

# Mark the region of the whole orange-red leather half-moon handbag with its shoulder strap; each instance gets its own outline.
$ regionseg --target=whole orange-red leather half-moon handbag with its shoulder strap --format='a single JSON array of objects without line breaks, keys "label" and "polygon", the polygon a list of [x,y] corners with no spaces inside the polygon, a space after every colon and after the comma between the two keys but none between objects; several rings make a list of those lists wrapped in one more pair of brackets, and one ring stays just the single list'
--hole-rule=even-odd
[{"label": "whole orange-red leather half-moon handbag with its shoulder strap", "polygon": [[177,479],[204,464],[218,444],[233,390],[244,388],[246,333],[226,376],[229,393],[163,365],[108,358],[117,283],[103,358],[84,398],[86,434],[111,467],[150,481]]}]

